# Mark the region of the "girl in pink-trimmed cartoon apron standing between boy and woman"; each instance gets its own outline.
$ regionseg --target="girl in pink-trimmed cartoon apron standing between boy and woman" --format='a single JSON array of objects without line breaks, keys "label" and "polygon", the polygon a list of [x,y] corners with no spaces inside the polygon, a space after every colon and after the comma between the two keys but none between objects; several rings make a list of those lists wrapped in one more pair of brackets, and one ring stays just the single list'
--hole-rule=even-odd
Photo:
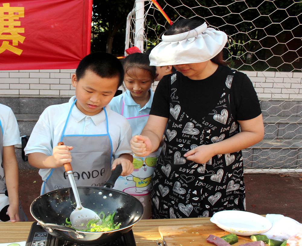
[{"label": "girl in pink-trimmed cartoon apron standing between boy and woman", "polygon": [[[133,53],[125,58],[124,83],[127,90],[114,97],[109,104],[111,110],[127,118],[133,136],[140,134],[146,125],[153,100],[151,85],[156,77],[156,68],[149,63],[148,55],[143,53]],[[133,173],[119,177],[114,186],[115,189],[136,196],[142,202],[145,207],[143,218],[151,217],[149,191],[157,157],[156,152],[150,152],[144,158],[133,156]]]}]

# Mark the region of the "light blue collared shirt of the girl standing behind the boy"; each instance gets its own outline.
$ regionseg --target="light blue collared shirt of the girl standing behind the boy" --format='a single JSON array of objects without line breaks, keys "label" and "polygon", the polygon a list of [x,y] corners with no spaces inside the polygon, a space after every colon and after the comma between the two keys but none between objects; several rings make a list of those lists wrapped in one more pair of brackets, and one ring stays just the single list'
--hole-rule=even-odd
[{"label": "light blue collared shirt of the girl standing behind the boy", "polygon": [[[154,95],[154,92],[151,89],[149,91],[150,91],[149,101],[142,108],[140,107],[139,104],[134,102],[130,91],[126,90],[123,94],[118,95],[111,100],[111,102],[109,103],[110,109],[113,110],[114,112],[121,114],[123,100],[124,100],[123,116],[125,118],[136,117],[141,115],[149,115],[152,105],[153,95]],[[147,123],[148,118],[149,116],[145,116],[145,117],[128,120],[131,126],[132,136],[140,135],[140,133],[142,132],[143,128]]]}]

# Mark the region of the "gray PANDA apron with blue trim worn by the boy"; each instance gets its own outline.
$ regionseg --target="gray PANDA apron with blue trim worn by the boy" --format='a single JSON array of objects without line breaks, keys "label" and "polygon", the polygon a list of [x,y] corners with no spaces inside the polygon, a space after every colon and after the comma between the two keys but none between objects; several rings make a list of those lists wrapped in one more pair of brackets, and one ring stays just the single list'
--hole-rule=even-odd
[{"label": "gray PANDA apron with blue trim worn by the boy", "polygon": [[[103,108],[106,117],[106,134],[65,135],[68,120],[75,103],[76,100],[69,110],[60,141],[67,146],[73,147],[70,151],[72,154],[71,165],[76,185],[101,187],[104,186],[104,183],[111,175],[112,163],[112,142],[108,131],[107,112]],[[70,183],[64,167],[53,168],[42,184],[41,194],[67,187],[70,187]]]}]

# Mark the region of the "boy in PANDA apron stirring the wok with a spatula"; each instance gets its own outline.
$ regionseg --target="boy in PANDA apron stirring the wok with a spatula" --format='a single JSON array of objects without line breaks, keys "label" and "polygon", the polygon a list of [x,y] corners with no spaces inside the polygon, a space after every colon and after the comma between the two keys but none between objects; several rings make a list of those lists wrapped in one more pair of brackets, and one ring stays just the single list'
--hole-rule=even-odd
[{"label": "boy in PANDA apron stirring the wok with a spatula", "polygon": [[108,106],[123,78],[116,57],[89,54],[72,75],[76,96],[41,114],[24,149],[29,163],[40,168],[41,194],[70,187],[64,163],[71,162],[78,186],[103,186],[118,164],[121,175],[132,173],[130,125]]}]

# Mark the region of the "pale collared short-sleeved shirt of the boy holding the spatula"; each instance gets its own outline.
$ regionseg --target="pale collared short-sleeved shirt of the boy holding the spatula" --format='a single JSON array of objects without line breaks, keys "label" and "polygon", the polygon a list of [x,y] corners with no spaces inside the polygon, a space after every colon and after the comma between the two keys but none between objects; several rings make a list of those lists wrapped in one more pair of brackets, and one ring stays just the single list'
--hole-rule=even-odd
[{"label": "pale collared short-sleeved shirt of the boy holding the spatula", "polygon": [[[34,152],[52,155],[53,147],[60,142],[70,107],[75,99],[76,96],[73,96],[67,103],[51,105],[44,110],[24,149],[26,155]],[[112,154],[114,158],[118,158],[121,154],[132,154],[130,148],[132,135],[129,123],[124,117],[111,111],[109,105],[105,109],[108,116],[108,128],[112,140]],[[97,115],[88,116],[83,114],[74,105],[65,135],[76,134],[107,134],[104,110]]]}]

